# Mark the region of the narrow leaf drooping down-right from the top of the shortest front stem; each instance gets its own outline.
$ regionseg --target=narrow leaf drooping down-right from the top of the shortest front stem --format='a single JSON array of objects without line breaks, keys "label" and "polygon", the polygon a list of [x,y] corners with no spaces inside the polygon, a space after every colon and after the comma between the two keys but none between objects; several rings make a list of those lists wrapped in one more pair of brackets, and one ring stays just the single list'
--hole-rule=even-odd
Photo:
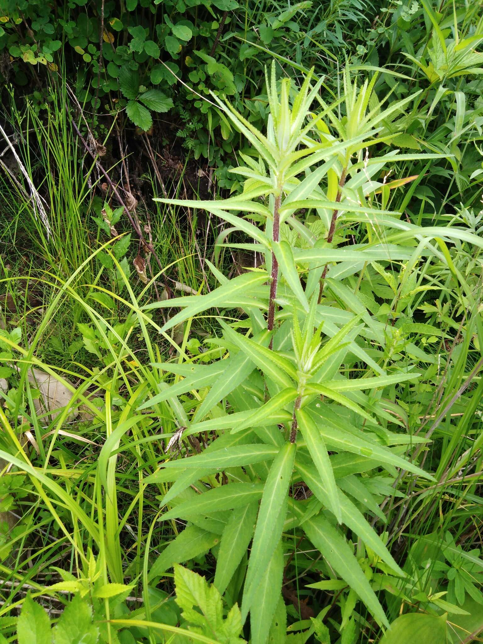
[{"label": "narrow leaf drooping down-right from the top of the shortest front stem", "polygon": [[323,503],[328,507],[328,509],[332,510],[337,521],[341,523],[342,513],[339,504],[339,493],[337,491],[336,479],[334,478],[334,472],[330,465],[330,459],[328,457],[324,440],[321,437],[316,422],[307,412],[304,410],[298,410],[298,412],[296,412],[296,416],[299,428],[302,431],[308,451],[312,457],[312,461],[314,462],[314,465],[321,477],[321,482],[325,487],[326,495]]}]

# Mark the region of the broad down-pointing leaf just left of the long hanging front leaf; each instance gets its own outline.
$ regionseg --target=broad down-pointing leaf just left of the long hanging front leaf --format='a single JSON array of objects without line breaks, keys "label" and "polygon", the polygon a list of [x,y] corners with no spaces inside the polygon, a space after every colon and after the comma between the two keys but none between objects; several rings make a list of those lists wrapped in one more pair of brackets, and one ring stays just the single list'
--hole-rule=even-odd
[{"label": "broad down-pointing leaf just left of the long hanging front leaf", "polygon": [[238,507],[232,512],[223,530],[213,582],[221,594],[225,592],[242,561],[243,554],[247,552],[255,529],[257,512],[258,503],[256,502],[245,507]]}]

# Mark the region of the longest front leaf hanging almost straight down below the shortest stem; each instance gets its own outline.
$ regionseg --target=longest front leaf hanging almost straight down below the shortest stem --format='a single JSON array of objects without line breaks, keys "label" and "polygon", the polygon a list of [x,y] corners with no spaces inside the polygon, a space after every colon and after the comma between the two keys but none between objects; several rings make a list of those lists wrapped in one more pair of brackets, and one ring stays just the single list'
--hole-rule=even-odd
[{"label": "longest front leaf hanging almost straight down below the shortest stem", "polygon": [[280,540],[287,514],[287,495],[294,466],[295,444],[287,442],[272,463],[261,497],[252,549],[243,589],[242,619],[247,618],[261,578]]}]

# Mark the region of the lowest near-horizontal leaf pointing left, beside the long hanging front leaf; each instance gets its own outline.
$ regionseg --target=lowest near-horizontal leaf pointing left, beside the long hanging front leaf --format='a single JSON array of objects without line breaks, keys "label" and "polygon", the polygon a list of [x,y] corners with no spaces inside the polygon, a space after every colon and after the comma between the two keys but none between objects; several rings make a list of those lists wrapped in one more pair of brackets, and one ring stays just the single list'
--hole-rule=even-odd
[{"label": "lowest near-horizontal leaf pointing left, beside the long hanging front leaf", "polygon": [[162,515],[163,520],[177,516],[205,515],[208,512],[231,510],[258,501],[263,493],[261,483],[229,483],[196,495]]}]

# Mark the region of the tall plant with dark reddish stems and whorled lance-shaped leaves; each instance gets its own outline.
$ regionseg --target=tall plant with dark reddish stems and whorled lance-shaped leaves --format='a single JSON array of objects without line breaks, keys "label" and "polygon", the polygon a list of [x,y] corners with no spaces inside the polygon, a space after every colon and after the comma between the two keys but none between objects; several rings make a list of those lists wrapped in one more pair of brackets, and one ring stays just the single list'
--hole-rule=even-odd
[{"label": "tall plant with dark reddish stems and whorled lance-shaped leaves", "polygon": [[[406,350],[398,347],[398,352],[406,355],[403,361],[393,359],[395,334],[399,333],[402,339],[404,327],[394,328],[392,333],[387,331],[383,339],[384,325],[370,316],[364,304],[369,301],[366,298],[371,297],[370,293],[365,290],[363,298],[362,293],[361,296],[354,294],[341,281],[331,278],[334,272],[329,271],[326,276],[328,263],[355,262],[356,270],[372,264],[392,287],[394,303],[400,300],[403,303],[402,312],[407,306],[404,294],[415,289],[415,284],[407,283],[410,267],[414,269],[420,252],[414,254],[412,240],[420,240],[420,249],[426,247],[436,253],[430,240],[438,235],[471,238],[473,243],[481,245],[476,236],[457,229],[401,226],[398,213],[386,213],[368,204],[377,186],[373,185],[370,192],[367,189],[357,192],[357,185],[370,178],[374,166],[380,168],[381,164],[399,160],[435,156],[394,153],[373,156],[369,161],[363,158],[362,151],[368,146],[377,144],[381,138],[397,135],[398,119],[393,125],[391,120],[401,115],[411,97],[381,111],[381,104],[372,96],[374,81],[357,90],[347,75],[344,120],[339,120],[325,104],[323,112],[312,119],[310,106],[319,86],[320,82],[310,87],[308,77],[301,90],[290,94],[289,81],[283,80],[278,93],[272,69],[272,78],[267,79],[270,116],[266,136],[233,108],[220,103],[234,126],[251,142],[252,154],[258,156],[256,162],[243,156],[247,166],[234,169],[246,177],[243,194],[216,202],[162,200],[168,204],[202,207],[245,232],[255,244],[246,243],[241,247],[264,254],[266,268],[227,281],[212,267],[222,282],[218,289],[205,296],[176,298],[148,307],[149,310],[181,307],[162,327],[164,330],[214,307],[239,307],[247,315],[241,323],[248,330],[246,334],[236,332],[240,325],[229,326],[220,319],[223,336],[217,343],[229,351],[229,359],[211,367],[156,364],[156,368],[185,378],[175,388],[164,387],[140,409],[165,403],[171,406],[180,424],[178,439],[207,430],[225,430],[204,453],[182,463],[167,460],[164,468],[146,482],[172,481],[162,504],[168,508],[173,502],[175,505],[164,513],[164,520],[184,518],[197,526],[203,524],[205,515],[211,522],[215,516],[223,521],[226,511],[232,510],[221,533],[214,585],[220,592],[226,592],[234,578],[244,577],[240,594],[242,618],[250,612],[254,643],[265,642],[269,637],[283,580],[282,554],[293,547],[292,540],[312,542],[350,587],[343,625],[348,623],[357,598],[366,604],[377,622],[388,625],[367,576],[337,524],[345,523],[359,537],[359,549],[365,544],[375,553],[372,569],[381,566],[395,574],[402,573],[384,542],[350,500],[348,488],[339,483],[336,462],[343,459],[343,472],[347,473],[351,463],[365,457],[368,459],[365,470],[385,468],[393,475],[393,466],[399,466],[406,472],[431,478],[415,462],[401,459],[397,450],[388,447],[421,440],[390,431],[387,428],[390,417],[381,404],[381,398],[386,399],[392,391],[390,404],[397,406],[395,383],[399,383],[398,388],[404,382],[409,384],[403,387],[417,388],[417,384],[410,384],[419,374],[415,372],[408,345]],[[326,114],[340,138],[330,135],[327,125],[322,127]],[[382,134],[377,129],[379,123],[384,123]],[[326,133],[321,143],[309,137],[316,126],[317,131]],[[376,135],[379,136],[375,138]],[[322,187],[324,181],[327,189]],[[359,204],[352,198],[353,194],[357,194]],[[301,208],[316,209],[327,242],[314,244],[307,223],[304,225],[294,216]],[[247,214],[240,217],[232,211]],[[264,231],[247,217],[263,222]],[[368,243],[359,244],[354,250],[337,249],[334,240],[344,238],[341,232],[337,236],[335,232],[341,220],[343,226],[350,226],[353,220],[367,221],[372,226],[379,227],[382,223],[384,227],[402,227],[408,232],[384,234],[383,240],[376,232],[373,240],[368,227]],[[399,286],[383,265],[376,263],[376,256],[382,261],[406,260]],[[319,298],[325,295],[325,290],[319,289],[319,283],[330,292],[320,304]],[[332,307],[326,301],[333,301]],[[351,313],[340,317],[341,309],[336,301]],[[266,319],[261,315],[263,311],[267,312]],[[333,326],[335,319],[345,321],[341,328]],[[365,341],[361,342],[366,336],[377,337],[382,349],[379,357]],[[350,354],[365,362],[363,377],[348,378],[337,373]],[[188,418],[175,401],[178,395],[193,388],[198,393],[196,402],[189,402],[191,418]],[[337,455],[331,456],[334,451]],[[221,480],[214,483],[213,478],[205,478],[216,472],[223,472],[224,484]],[[200,478],[209,480],[211,489],[201,496],[176,502],[176,497]],[[359,489],[365,489],[363,478],[355,480]],[[303,482],[314,495],[308,504],[294,494],[298,482]],[[255,516],[258,518],[254,525]],[[198,537],[204,541],[204,549],[210,547],[211,539],[218,534],[216,531],[210,536],[209,525],[205,524],[208,530],[205,536]],[[194,545],[197,530],[194,526],[180,533],[156,560],[150,579],[155,580],[169,569],[173,557],[179,556],[175,553],[182,544],[183,560],[196,555],[200,545],[198,542]],[[193,531],[193,551],[187,547],[189,531]],[[251,541],[247,562],[244,555]],[[232,601],[236,601],[236,594],[229,592]]]}]

